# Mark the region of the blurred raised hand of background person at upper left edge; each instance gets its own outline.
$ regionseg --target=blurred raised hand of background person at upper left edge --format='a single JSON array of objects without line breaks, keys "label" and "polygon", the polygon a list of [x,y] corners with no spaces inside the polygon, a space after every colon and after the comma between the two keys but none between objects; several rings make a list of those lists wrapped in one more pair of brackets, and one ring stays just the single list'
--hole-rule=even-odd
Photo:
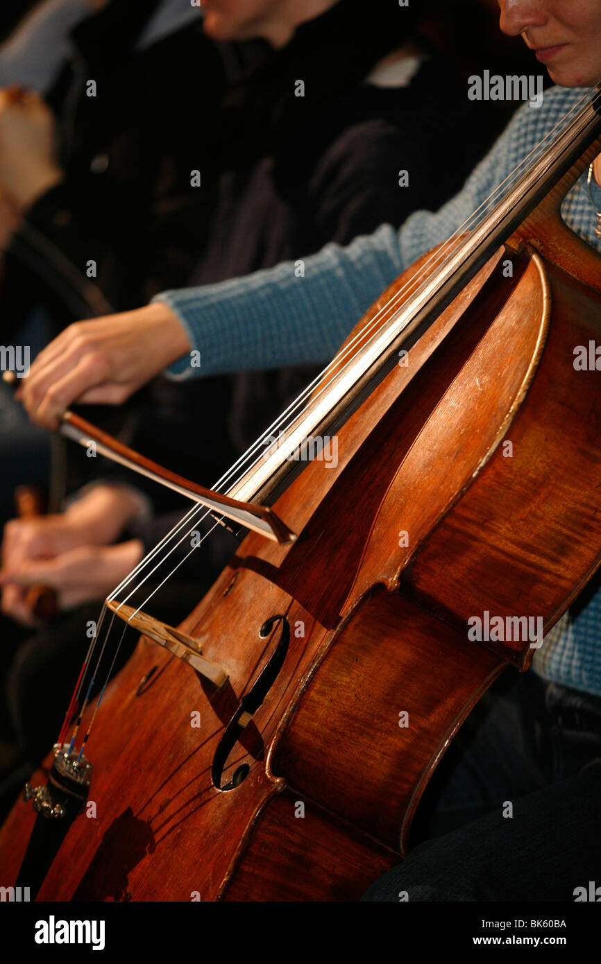
[{"label": "blurred raised hand of background person at upper left edge", "polygon": [[0,185],[22,211],[63,180],[55,127],[40,94],[0,90]]}]

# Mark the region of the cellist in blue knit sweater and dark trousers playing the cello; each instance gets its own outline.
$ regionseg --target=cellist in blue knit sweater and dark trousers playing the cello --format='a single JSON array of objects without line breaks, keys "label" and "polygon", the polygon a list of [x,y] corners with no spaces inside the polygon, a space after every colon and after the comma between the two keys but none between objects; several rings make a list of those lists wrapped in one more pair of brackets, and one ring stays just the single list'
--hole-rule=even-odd
[{"label": "cellist in blue knit sweater and dark trousers playing the cello", "polygon": [[[172,378],[186,379],[329,359],[384,287],[459,228],[578,103],[583,89],[601,79],[601,0],[499,2],[502,30],[522,36],[557,86],[541,104],[526,103],[516,112],[459,195],[436,214],[412,215],[398,231],[384,225],[345,249],[327,246],[307,258],[303,277],[285,263],[242,280],[165,292],[147,308],[71,326],[41,353],[21,389],[32,419],[56,428],[72,401],[118,404],[166,366]],[[597,251],[600,185],[598,157],[561,212]],[[190,366],[191,350],[201,351],[201,368]],[[18,574],[3,578],[17,580]],[[482,760],[491,762],[484,745],[489,740],[506,763],[505,774],[494,773],[487,783],[488,774],[480,771],[472,786],[469,766],[458,770],[459,791],[451,793],[449,807],[463,806],[464,816],[493,811],[482,818],[497,820],[494,826],[478,823],[458,831],[477,842],[460,886],[450,884],[457,849],[451,834],[441,838],[433,860],[423,860],[421,851],[392,871],[390,886],[379,885],[375,899],[398,899],[402,892],[410,899],[571,900],[594,879],[595,869],[598,875],[601,853],[593,819],[601,802],[601,763],[595,763],[601,759],[601,592],[593,590],[548,634],[533,671],[493,701],[478,732],[484,742],[473,770]],[[473,793],[477,786],[479,795]],[[507,800],[519,800],[519,819],[513,822],[500,820]],[[571,820],[574,812],[578,818]],[[540,832],[532,835],[541,813]],[[555,825],[549,822],[554,814]],[[491,840],[493,852],[486,845]],[[485,888],[491,862],[492,882]],[[456,863],[454,872],[457,876]]]}]

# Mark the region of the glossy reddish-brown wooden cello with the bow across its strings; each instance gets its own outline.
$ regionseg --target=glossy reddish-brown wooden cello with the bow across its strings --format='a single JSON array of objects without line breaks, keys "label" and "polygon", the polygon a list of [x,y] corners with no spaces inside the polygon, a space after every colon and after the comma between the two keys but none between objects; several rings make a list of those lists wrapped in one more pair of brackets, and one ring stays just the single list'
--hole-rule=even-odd
[{"label": "glossy reddish-brown wooden cello with the bow across its strings", "polygon": [[[402,859],[452,736],[530,665],[529,620],[551,629],[601,562],[601,386],[573,363],[601,340],[601,258],[560,220],[600,150],[597,91],[383,293],[225,495],[65,416],[204,508],[103,608],[34,808],[0,831],[6,882],[40,900],[348,900]],[[300,467],[326,437],[336,465]],[[175,629],[131,595],[199,512],[251,531]],[[471,639],[485,614],[507,631]],[[142,638],[93,702],[122,620]]]}]

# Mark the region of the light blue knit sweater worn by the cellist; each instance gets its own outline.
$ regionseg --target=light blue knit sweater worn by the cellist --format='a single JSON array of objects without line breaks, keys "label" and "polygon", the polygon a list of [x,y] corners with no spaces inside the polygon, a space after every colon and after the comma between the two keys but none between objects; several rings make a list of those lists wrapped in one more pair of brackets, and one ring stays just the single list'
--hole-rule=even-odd
[{"label": "light blue knit sweater worn by the cellist", "polygon": [[[586,93],[555,87],[545,92],[541,107],[525,104],[460,193],[437,213],[417,211],[399,230],[383,225],[346,248],[326,245],[304,259],[304,276],[297,262],[287,261],[246,278],[158,295],[202,355],[200,368],[186,357],[168,369],[169,377],[328,362],[384,288],[459,228]],[[593,199],[601,210],[596,186]],[[563,201],[561,215],[601,251],[586,174]],[[601,591],[576,619],[566,613],[535,652],[533,668],[546,679],[601,696]]]}]

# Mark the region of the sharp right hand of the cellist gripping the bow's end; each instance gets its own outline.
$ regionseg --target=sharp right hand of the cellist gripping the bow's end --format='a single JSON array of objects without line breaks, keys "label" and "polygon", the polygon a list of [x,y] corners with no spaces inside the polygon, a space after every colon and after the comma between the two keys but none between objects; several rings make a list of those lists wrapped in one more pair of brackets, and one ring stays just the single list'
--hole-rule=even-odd
[{"label": "sharp right hand of the cellist gripping the bow's end", "polygon": [[178,316],[162,302],[69,325],[32,364],[16,397],[42,428],[72,402],[121,405],[190,351]]}]

